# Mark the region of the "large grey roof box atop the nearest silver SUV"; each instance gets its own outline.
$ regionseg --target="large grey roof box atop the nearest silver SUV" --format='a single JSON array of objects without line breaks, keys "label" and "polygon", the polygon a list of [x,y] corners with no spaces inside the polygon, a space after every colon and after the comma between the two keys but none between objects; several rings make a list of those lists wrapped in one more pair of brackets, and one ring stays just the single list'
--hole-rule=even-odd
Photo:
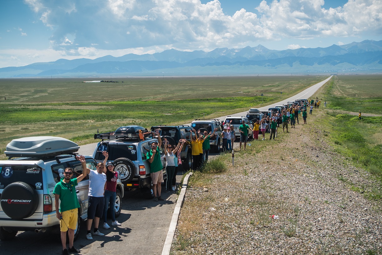
[{"label": "large grey roof box atop the nearest silver SUV", "polygon": [[4,151],[7,157],[49,157],[78,151],[78,144],[56,136],[13,139]]}]

